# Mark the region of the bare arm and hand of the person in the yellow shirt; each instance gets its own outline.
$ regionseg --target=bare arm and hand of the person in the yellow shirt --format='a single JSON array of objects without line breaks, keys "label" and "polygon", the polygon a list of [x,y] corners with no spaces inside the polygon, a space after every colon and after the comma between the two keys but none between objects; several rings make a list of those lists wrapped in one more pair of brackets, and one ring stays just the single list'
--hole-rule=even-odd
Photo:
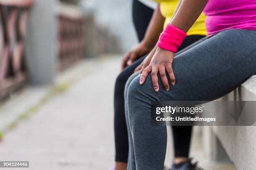
[{"label": "bare arm and hand of the person in the yellow shirt", "polygon": [[164,20],[165,19],[161,15],[160,7],[158,5],[156,10],[154,10],[154,14],[148,25],[143,40],[123,57],[122,70],[127,65],[131,65],[136,59],[147,54],[154,48],[156,42],[158,41],[159,35],[163,31]]}]

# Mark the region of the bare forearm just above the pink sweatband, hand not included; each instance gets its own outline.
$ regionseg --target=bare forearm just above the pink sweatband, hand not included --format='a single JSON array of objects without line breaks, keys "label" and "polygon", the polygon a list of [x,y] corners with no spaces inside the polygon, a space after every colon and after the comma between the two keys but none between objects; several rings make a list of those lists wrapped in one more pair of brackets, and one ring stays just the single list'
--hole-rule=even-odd
[{"label": "bare forearm just above the pink sweatband, hand not included", "polygon": [[187,32],[202,13],[208,0],[180,0],[170,24]]}]

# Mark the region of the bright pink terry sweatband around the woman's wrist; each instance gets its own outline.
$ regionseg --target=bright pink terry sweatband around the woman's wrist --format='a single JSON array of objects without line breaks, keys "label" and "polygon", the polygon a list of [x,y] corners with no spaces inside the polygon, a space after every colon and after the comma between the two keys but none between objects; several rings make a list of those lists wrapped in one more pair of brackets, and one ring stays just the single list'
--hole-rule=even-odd
[{"label": "bright pink terry sweatband around the woman's wrist", "polygon": [[157,46],[168,51],[177,52],[177,48],[181,45],[184,38],[187,36],[186,32],[167,24],[164,31],[161,33]]}]

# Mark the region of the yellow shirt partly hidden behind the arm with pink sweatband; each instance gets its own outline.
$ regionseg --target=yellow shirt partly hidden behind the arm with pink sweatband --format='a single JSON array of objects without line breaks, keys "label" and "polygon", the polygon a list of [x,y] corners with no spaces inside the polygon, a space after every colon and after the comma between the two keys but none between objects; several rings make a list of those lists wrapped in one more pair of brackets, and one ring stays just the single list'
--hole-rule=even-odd
[{"label": "yellow shirt partly hidden behind the arm with pink sweatband", "polygon": [[[164,28],[170,22],[179,0],[154,0],[159,2],[161,14],[165,18]],[[205,30],[205,15],[201,13],[196,22],[188,30],[187,35],[207,35]]]}]

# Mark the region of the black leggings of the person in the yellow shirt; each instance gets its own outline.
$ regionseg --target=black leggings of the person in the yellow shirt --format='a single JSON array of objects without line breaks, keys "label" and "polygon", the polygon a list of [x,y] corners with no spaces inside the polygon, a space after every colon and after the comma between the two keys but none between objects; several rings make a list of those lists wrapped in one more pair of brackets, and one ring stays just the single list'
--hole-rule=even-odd
[{"label": "black leggings of the person in the yellow shirt", "polygon": [[[200,40],[203,35],[189,35],[178,48],[182,50],[188,45]],[[125,122],[124,88],[128,78],[133,74],[135,68],[146,56],[136,60],[132,65],[126,67],[117,77],[115,82],[114,96],[114,127],[115,127],[115,161],[127,162],[128,159],[128,133]],[[174,136],[174,156],[188,157],[192,126],[172,126]]]}]

